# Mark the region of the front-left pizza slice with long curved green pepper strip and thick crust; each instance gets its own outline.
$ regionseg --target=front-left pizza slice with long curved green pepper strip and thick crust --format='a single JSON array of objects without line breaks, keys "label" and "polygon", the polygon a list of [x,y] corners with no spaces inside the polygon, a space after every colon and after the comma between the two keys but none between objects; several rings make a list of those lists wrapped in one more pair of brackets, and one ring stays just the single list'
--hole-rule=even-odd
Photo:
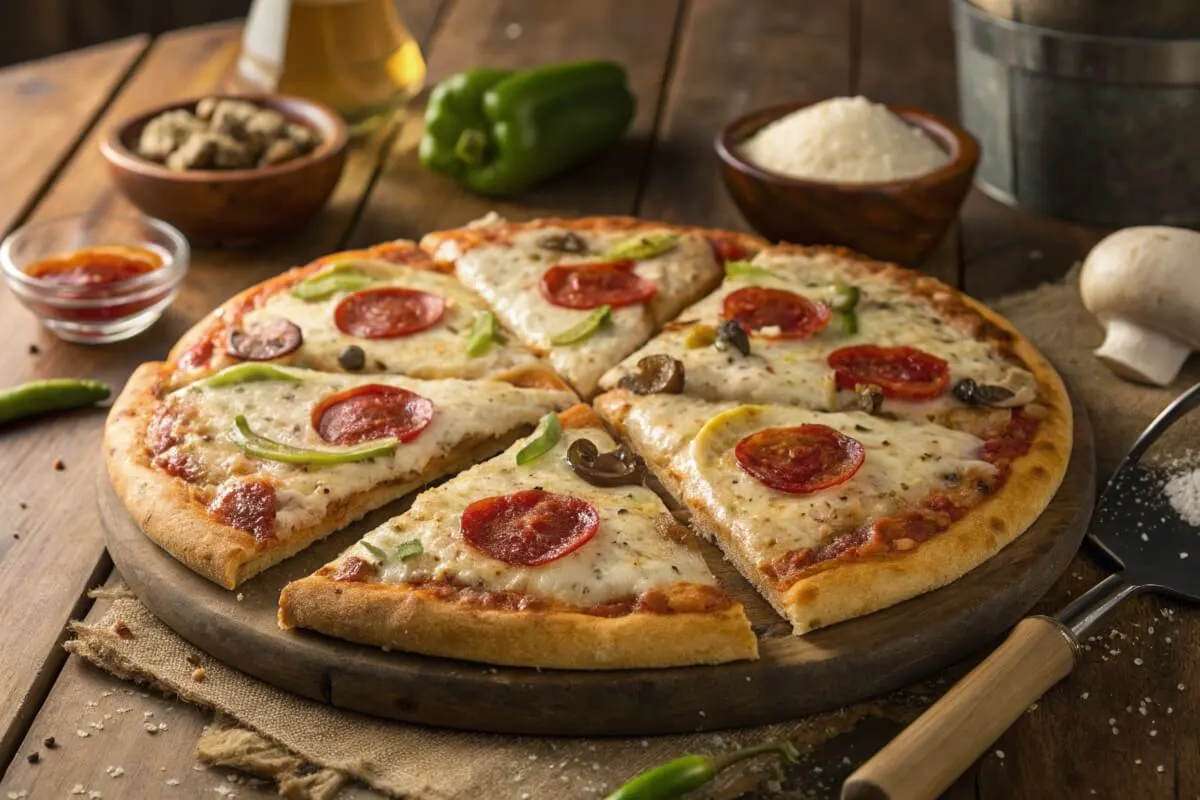
[{"label": "front-left pizza slice with long curved green pepper strip and thick crust", "polygon": [[109,414],[108,471],[150,539],[232,589],[575,402],[547,367],[510,380],[241,363],[172,391],[145,363]]}]

